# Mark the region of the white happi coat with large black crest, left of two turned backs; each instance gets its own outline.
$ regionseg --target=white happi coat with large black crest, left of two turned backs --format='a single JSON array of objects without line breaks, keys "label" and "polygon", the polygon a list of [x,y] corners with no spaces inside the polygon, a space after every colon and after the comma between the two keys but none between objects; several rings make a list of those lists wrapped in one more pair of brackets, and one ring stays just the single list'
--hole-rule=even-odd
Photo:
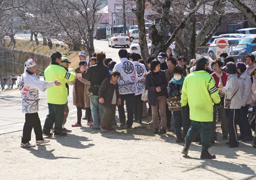
[{"label": "white happi coat with large black crest, left of two turned backs", "polygon": [[127,58],[122,58],[113,69],[121,74],[118,80],[119,94],[132,94],[136,92],[135,82],[138,82],[135,65]]}]

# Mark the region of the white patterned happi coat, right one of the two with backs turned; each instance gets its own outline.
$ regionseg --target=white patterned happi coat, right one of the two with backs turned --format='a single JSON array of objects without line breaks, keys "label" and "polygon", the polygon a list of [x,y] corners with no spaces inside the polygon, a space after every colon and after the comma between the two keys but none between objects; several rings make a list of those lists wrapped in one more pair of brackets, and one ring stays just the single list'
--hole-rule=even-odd
[{"label": "white patterned happi coat, right one of the two with backs turned", "polygon": [[146,67],[144,64],[141,64],[138,61],[133,61],[133,64],[136,67],[136,72],[138,77],[137,80],[140,82],[140,83],[136,83],[135,95],[140,95],[142,94],[142,91],[144,89],[143,73],[146,72]]}]

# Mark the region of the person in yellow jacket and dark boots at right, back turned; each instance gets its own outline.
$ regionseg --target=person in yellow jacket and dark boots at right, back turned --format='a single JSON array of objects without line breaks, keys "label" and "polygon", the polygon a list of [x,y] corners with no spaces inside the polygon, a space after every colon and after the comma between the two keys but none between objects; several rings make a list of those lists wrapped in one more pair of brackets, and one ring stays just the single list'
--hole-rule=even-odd
[{"label": "person in yellow jacket and dark boots at right, back turned", "polygon": [[[208,152],[211,136],[211,124],[213,120],[214,104],[220,106],[220,96],[212,76],[205,71],[208,61],[204,57],[196,60],[196,71],[187,75],[181,94],[182,113],[188,111],[191,119],[191,126],[185,138],[185,145],[182,150],[187,155],[191,142],[201,130],[202,152],[201,159],[214,159],[215,155]],[[187,106],[188,105],[188,106]]]}]

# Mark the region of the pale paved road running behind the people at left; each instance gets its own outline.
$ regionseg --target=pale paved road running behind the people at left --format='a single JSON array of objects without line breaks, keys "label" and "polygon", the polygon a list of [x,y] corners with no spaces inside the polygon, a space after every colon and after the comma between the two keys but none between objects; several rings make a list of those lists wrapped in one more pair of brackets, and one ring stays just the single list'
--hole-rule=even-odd
[{"label": "pale paved road running behind the people at left", "polygon": [[[16,39],[30,39],[29,34],[17,34],[14,36]],[[41,36],[38,36],[38,40],[42,40]],[[118,51],[123,47],[111,48],[108,46],[106,40],[94,40],[94,46],[96,53],[102,50],[105,52],[107,58],[112,58],[114,61],[119,62]],[[127,48],[129,52],[129,48]],[[70,114],[76,113],[76,108],[73,106],[72,99],[73,87],[70,86],[69,108]],[[39,117],[41,124],[44,124],[46,115],[48,114],[48,105],[46,101],[46,92],[39,93]],[[23,129],[25,114],[20,112],[21,98],[18,90],[0,93],[0,134],[20,131]]]}]

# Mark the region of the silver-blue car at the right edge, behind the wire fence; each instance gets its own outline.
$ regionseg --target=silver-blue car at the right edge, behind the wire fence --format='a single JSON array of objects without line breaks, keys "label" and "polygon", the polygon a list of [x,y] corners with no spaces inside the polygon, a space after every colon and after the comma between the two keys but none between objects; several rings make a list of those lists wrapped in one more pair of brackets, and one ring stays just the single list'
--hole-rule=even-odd
[{"label": "silver-blue car at the right edge, behind the wire fence", "polygon": [[[236,62],[242,61],[244,62],[244,58],[246,55],[246,43],[256,43],[256,35],[244,37],[237,47],[234,47],[229,50],[229,56],[232,56]],[[252,46],[252,52],[256,50],[256,46]]]}]

